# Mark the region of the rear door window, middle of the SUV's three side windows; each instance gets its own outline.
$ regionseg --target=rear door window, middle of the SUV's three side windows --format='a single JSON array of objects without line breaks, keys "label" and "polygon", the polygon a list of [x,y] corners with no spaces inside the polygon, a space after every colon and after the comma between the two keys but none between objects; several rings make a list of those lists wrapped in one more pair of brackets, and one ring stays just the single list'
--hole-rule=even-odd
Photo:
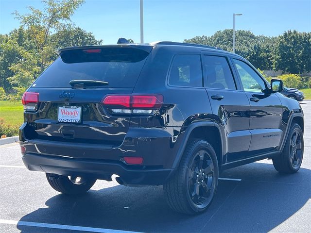
[{"label": "rear door window, middle of the SUV's three side windows", "polygon": [[225,57],[204,55],[207,87],[236,90],[236,85]]}]

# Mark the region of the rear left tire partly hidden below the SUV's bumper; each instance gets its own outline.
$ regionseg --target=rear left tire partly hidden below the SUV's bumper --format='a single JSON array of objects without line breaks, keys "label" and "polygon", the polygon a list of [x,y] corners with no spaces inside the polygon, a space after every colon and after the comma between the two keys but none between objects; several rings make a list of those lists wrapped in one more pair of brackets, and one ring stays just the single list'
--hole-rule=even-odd
[{"label": "rear left tire partly hidden below the SUV's bumper", "polygon": [[60,176],[45,173],[49,184],[57,192],[67,195],[81,195],[86,193],[96,182],[96,179]]}]

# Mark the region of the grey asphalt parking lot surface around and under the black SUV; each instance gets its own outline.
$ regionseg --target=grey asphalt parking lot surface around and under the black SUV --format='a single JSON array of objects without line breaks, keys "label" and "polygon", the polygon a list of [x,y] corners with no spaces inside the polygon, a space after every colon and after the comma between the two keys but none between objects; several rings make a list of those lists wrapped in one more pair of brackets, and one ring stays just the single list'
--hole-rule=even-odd
[{"label": "grey asphalt parking lot surface around and under the black SUV", "polygon": [[54,191],[44,173],[23,166],[18,144],[0,146],[0,233],[310,233],[311,101],[301,106],[305,148],[299,172],[281,175],[270,160],[226,170],[215,200],[199,216],[173,212],[162,186],[125,187],[97,181],[86,195],[69,198]]}]

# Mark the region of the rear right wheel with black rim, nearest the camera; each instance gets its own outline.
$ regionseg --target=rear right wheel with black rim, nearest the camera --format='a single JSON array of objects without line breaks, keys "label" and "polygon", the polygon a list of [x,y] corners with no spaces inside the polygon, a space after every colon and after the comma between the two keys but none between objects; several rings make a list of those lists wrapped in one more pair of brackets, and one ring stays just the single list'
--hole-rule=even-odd
[{"label": "rear right wheel with black rim, nearest the camera", "polygon": [[210,206],[217,184],[215,150],[207,141],[195,140],[187,145],[177,171],[163,185],[163,189],[174,211],[194,215]]}]

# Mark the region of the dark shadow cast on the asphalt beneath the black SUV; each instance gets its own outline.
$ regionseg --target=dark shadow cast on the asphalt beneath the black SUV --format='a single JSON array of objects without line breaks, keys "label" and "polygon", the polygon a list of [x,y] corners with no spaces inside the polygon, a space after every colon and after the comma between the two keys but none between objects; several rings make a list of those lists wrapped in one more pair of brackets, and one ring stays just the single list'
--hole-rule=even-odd
[{"label": "dark shadow cast on the asphalt beneath the black SUV", "polygon": [[[311,171],[305,168],[281,175],[271,164],[253,163],[227,170],[221,177],[242,181],[219,181],[215,200],[198,216],[173,212],[162,186],[118,185],[90,190],[79,198],[56,195],[46,201],[47,208],[20,221],[138,232],[268,232],[293,216],[311,197]],[[31,232],[29,227],[17,228]]]}]

